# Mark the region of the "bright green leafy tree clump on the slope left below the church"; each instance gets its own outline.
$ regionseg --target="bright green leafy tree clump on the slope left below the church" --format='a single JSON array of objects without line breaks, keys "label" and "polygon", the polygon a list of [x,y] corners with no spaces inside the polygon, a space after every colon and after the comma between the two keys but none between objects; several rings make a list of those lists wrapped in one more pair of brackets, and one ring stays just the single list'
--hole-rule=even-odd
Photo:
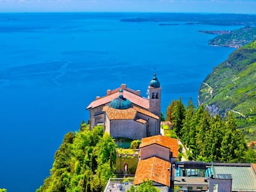
[{"label": "bright green leafy tree clump on the slope left below the church", "polygon": [[114,177],[115,158],[116,144],[110,135],[103,136],[103,127],[90,131],[82,122],[80,131],[64,136],[51,175],[36,192],[101,191]]}]

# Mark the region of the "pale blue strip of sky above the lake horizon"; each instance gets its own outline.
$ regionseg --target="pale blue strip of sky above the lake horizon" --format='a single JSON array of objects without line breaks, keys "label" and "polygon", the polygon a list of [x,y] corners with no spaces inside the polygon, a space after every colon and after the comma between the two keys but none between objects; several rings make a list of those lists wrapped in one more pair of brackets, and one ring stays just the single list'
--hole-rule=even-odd
[{"label": "pale blue strip of sky above the lake horizon", "polygon": [[173,12],[256,14],[244,0],[0,0],[0,12]]}]

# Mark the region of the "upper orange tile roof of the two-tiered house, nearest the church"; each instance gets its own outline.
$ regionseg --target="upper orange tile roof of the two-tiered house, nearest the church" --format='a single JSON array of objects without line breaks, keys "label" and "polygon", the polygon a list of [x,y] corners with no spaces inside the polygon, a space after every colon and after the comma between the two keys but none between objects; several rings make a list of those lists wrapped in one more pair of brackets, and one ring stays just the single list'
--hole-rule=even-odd
[{"label": "upper orange tile roof of the two-tiered house, nearest the church", "polygon": [[164,146],[166,148],[169,148],[170,151],[173,152],[173,157],[178,156],[178,153],[179,153],[178,140],[174,138],[170,138],[168,136],[155,135],[155,136],[142,138],[142,143],[140,144],[140,148],[143,148],[145,146],[148,146],[154,143]]}]

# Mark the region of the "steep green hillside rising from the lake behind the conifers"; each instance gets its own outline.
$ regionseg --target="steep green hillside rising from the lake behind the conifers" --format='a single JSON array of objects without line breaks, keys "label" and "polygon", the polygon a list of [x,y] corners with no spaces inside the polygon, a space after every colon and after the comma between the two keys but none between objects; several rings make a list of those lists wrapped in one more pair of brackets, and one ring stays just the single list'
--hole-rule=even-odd
[{"label": "steep green hillside rising from the lake behind the conifers", "polygon": [[237,49],[213,69],[200,86],[198,103],[207,104],[211,114],[224,116],[229,111],[233,112],[239,128],[255,133],[256,41]]}]

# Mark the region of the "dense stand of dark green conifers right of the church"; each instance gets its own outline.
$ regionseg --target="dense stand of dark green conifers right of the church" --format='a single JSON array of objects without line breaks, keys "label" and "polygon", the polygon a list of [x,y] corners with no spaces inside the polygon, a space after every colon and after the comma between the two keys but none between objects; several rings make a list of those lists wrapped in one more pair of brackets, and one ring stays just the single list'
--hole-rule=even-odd
[{"label": "dense stand of dark green conifers right of the church", "polygon": [[[233,114],[225,119],[213,117],[205,106],[195,106],[190,99],[185,111],[181,99],[168,106],[166,117],[174,124],[174,130],[189,149],[189,159],[198,161],[253,162],[255,154],[249,151],[244,135],[237,129]],[[184,111],[184,119],[179,122]],[[179,128],[181,128],[179,130]]]}]

